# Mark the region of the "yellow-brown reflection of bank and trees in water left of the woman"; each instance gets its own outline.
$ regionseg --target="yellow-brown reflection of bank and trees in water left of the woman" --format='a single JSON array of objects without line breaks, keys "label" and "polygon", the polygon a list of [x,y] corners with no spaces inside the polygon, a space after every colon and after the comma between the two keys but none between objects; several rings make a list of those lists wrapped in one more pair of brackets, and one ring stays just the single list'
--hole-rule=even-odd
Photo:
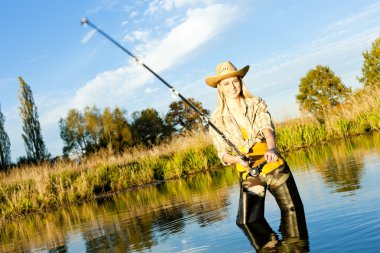
[{"label": "yellow-brown reflection of bank and trees in water left of the woman", "polygon": [[121,252],[142,252],[171,234],[183,232],[189,217],[200,226],[225,219],[230,204],[228,187],[236,180],[232,169],[217,170],[77,207],[30,215],[2,224],[0,252],[43,248],[66,252],[68,235],[78,232],[88,252],[116,248]]}]

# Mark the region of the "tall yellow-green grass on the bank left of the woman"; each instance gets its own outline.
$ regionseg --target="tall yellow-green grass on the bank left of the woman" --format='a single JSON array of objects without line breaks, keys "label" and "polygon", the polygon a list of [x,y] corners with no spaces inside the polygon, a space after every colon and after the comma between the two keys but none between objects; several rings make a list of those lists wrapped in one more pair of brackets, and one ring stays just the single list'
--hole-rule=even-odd
[{"label": "tall yellow-green grass on the bank left of the woman", "polygon": [[98,153],[80,164],[59,161],[0,173],[0,221],[94,199],[119,190],[184,177],[218,163],[208,135],[188,134],[152,149],[121,156]]}]

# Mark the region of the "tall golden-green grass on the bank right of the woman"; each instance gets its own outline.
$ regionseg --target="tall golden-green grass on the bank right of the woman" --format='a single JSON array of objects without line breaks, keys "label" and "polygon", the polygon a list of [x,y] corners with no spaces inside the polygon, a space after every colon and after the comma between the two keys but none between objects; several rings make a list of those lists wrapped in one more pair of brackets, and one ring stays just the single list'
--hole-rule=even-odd
[{"label": "tall golden-green grass on the bank right of the woman", "polygon": [[326,115],[325,124],[302,117],[277,124],[280,151],[380,130],[380,88],[363,89]]}]

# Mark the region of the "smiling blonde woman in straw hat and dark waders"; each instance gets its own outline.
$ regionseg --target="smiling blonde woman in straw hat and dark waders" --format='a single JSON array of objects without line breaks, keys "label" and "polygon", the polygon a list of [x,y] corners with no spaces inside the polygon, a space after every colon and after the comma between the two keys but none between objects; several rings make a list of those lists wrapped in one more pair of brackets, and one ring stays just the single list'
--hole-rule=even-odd
[{"label": "smiling blonde woman in straw hat and dark waders", "polygon": [[254,165],[266,161],[258,176],[250,175],[250,166],[210,128],[222,164],[236,165],[240,175],[241,195],[236,222],[247,236],[250,234],[251,242],[253,234],[255,248],[277,242],[264,218],[268,189],[281,209],[282,236],[307,239],[302,201],[289,167],[276,149],[275,129],[267,105],[253,96],[242,80],[248,70],[249,66],[237,70],[231,62],[222,62],[216,67],[216,75],[205,80],[210,87],[217,88],[218,94],[211,122],[249,156]]}]

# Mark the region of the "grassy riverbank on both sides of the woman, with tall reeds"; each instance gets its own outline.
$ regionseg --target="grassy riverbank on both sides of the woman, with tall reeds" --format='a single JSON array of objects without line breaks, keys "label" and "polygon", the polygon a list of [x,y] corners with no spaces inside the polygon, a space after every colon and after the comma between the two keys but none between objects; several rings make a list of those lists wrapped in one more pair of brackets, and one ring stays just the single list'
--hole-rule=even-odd
[{"label": "grassy riverbank on both sides of the woman, with tall reeds", "polygon": [[[329,113],[326,124],[300,118],[277,125],[281,152],[380,129],[380,90],[357,93]],[[184,177],[220,164],[205,133],[176,138],[152,149],[121,156],[97,153],[80,164],[58,161],[0,173],[0,221],[94,199],[122,189]]]}]

